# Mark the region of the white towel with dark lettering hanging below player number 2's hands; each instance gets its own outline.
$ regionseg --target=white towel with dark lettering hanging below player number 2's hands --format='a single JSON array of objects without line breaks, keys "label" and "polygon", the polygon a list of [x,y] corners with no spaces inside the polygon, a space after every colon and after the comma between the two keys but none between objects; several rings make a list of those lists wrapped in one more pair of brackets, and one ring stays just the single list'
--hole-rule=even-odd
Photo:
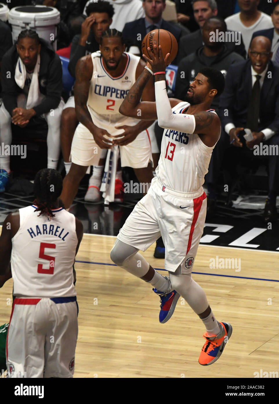
[{"label": "white towel with dark lettering hanging below player number 2's hands", "polygon": [[100,191],[103,192],[102,196],[104,198],[105,205],[108,205],[109,202],[114,202],[115,200],[115,174],[118,157],[118,145],[114,145],[111,149],[108,149],[102,185],[100,187]]}]

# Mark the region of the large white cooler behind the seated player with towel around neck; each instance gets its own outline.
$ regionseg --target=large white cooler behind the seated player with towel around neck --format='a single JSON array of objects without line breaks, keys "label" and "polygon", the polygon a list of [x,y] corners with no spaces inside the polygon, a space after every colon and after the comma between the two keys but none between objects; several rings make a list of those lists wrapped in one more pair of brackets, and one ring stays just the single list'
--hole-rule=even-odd
[{"label": "large white cooler behind the seated player with towel around neck", "polygon": [[[60,13],[57,8],[49,6],[18,6],[10,10],[8,21],[12,25],[14,43],[24,29],[33,29],[40,38],[51,43],[57,34],[56,25],[60,22]],[[53,47],[56,50],[56,41]]]}]

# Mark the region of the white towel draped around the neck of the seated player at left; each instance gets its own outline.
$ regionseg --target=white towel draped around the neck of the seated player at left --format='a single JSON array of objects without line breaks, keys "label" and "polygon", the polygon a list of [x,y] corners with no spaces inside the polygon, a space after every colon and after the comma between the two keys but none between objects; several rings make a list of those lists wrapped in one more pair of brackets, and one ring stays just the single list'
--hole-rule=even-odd
[{"label": "white towel draped around the neck of the seated player at left", "polygon": [[[33,108],[40,104],[41,102],[41,93],[39,88],[39,71],[40,71],[40,55],[37,57],[37,62],[33,71],[33,76],[29,88],[29,93],[27,97],[26,109]],[[15,82],[20,88],[24,88],[26,80],[26,68],[23,64],[23,61],[19,57],[17,60],[17,66],[15,68]]]}]

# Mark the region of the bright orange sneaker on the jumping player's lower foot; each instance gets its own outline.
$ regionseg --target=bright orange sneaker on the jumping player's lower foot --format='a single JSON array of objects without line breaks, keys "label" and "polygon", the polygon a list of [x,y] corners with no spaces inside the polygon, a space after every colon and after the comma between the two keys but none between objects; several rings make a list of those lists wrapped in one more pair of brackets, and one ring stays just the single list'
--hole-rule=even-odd
[{"label": "bright orange sneaker on the jumping player's lower foot", "polygon": [[206,339],[206,343],[202,347],[202,351],[200,353],[199,364],[201,365],[211,365],[213,362],[216,362],[221,353],[224,350],[226,343],[231,336],[233,328],[229,323],[219,323],[219,326],[222,327],[220,333],[218,335],[213,335],[212,337],[208,337],[207,332],[204,333],[203,337]]}]

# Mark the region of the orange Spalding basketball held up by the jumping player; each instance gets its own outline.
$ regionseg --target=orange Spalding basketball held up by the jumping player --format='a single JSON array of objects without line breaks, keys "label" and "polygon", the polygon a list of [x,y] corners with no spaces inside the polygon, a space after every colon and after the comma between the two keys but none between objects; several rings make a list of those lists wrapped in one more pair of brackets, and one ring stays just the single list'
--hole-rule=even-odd
[{"label": "orange Spalding basketball held up by the jumping player", "polygon": [[142,53],[146,55],[149,59],[151,59],[150,54],[148,53],[147,48],[150,48],[150,52],[154,55],[153,46],[161,46],[163,57],[165,58],[167,53],[169,53],[169,63],[173,61],[173,59],[177,55],[178,45],[177,40],[171,34],[171,32],[166,31],[165,29],[154,29],[153,31],[148,32],[142,41]]}]

